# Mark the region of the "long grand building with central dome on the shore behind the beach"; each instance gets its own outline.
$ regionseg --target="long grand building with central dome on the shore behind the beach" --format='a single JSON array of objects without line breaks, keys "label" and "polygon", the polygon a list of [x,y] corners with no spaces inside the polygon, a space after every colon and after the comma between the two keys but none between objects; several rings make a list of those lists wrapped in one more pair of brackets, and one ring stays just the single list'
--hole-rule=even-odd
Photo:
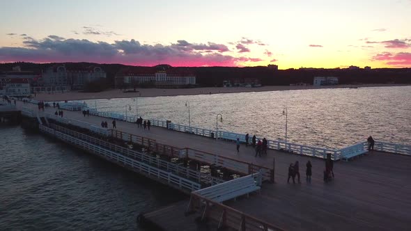
[{"label": "long grand building with central dome on the shore behind the beach", "polygon": [[[163,68],[164,65],[146,70],[125,71],[116,75],[116,86],[141,86],[153,84],[156,88],[182,88],[196,85],[196,76],[187,70]],[[120,81],[119,81],[120,80]],[[123,80],[123,83],[121,83]]]}]

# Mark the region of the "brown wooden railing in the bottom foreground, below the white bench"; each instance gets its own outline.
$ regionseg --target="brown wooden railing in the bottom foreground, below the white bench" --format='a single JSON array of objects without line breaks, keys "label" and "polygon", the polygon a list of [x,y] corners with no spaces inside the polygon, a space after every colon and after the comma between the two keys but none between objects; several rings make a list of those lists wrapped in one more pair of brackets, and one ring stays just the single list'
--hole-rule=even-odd
[{"label": "brown wooden railing in the bottom foreground, below the white bench", "polygon": [[219,202],[191,193],[189,212],[201,212],[202,218],[211,219],[218,223],[218,228],[233,228],[235,230],[251,231],[282,231],[283,229],[262,221],[254,216],[245,214]]}]

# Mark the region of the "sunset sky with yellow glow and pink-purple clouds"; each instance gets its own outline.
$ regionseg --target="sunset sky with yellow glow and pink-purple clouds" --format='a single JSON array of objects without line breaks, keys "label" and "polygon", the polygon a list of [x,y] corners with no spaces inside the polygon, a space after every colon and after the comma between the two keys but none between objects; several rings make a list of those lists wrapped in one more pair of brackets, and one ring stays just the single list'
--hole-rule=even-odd
[{"label": "sunset sky with yellow glow and pink-purple clouds", "polygon": [[411,67],[411,0],[0,1],[0,63]]}]

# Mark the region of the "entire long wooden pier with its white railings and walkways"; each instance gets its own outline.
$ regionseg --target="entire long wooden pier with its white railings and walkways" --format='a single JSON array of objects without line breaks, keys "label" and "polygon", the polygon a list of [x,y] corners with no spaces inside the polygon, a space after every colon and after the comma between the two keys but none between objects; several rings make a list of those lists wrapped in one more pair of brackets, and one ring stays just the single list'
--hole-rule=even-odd
[{"label": "entire long wooden pier with its white railings and walkways", "polygon": [[[189,132],[181,125],[167,129],[164,122],[154,120],[157,126],[148,131],[137,128],[129,118],[125,121],[118,118],[116,129],[111,129],[111,119],[102,114],[84,117],[81,111],[65,110],[61,118],[54,116],[56,108],[46,108],[43,112],[36,107],[17,102],[23,115],[38,118],[38,122],[44,124],[40,125],[43,133],[82,146],[125,168],[139,168],[138,173],[187,193],[187,201],[139,216],[140,220],[153,223],[160,230],[206,227],[211,230],[224,227],[235,230],[408,230],[409,227],[411,147],[407,145],[377,141],[376,150],[368,152],[365,142],[341,150],[327,150],[273,141],[266,155],[254,157],[254,149],[245,145],[241,145],[237,153],[228,133],[216,132],[221,138],[216,141],[207,137],[206,129],[196,129],[197,135],[194,135],[193,128],[188,128]],[[110,129],[101,128],[102,120],[107,120]],[[207,166],[224,166],[230,170],[229,175],[238,176],[228,180],[199,175],[196,170],[171,166],[157,157],[150,159],[144,152],[131,152],[111,141],[102,142],[94,136],[75,132],[68,126],[87,129],[100,137],[139,144],[169,157],[168,161],[189,159]],[[336,160],[335,178],[328,183],[323,181],[326,153],[332,153]],[[313,166],[311,183],[305,181],[304,174],[308,160]],[[301,183],[287,184],[288,165],[295,161],[300,162]],[[153,165],[158,168],[150,170]],[[229,191],[244,185],[235,184],[235,181],[249,175],[254,179],[249,184],[254,186],[255,183],[261,189],[244,194]],[[169,177],[173,179],[171,183]],[[201,190],[226,184],[224,182],[231,186],[218,191],[227,200],[202,196]]]}]

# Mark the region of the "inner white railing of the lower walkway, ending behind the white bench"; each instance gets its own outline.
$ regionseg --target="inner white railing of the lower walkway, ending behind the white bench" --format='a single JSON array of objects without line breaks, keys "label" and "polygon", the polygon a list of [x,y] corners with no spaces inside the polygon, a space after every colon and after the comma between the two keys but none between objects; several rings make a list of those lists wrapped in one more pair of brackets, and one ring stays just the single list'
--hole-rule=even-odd
[{"label": "inner white railing of the lower walkway, ending behind the white bench", "polygon": [[82,141],[86,141],[88,143],[93,143],[96,145],[100,145],[103,148],[107,148],[109,150],[112,150],[114,152],[118,152],[120,154],[124,154],[127,157],[132,157],[134,159],[137,159],[139,161],[142,161],[144,163],[148,163],[150,165],[155,165],[157,168],[162,168],[167,171],[171,171],[173,173],[176,173],[177,175],[183,175],[187,179],[196,179],[198,182],[204,182],[206,184],[210,185],[215,185],[219,184],[222,182],[225,182],[222,179],[219,179],[217,177],[212,177],[211,175],[197,172],[196,170],[192,170],[190,168],[185,168],[183,166],[180,166],[178,164],[173,164],[169,161],[164,161],[162,159],[159,159],[157,157],[153,157],[149,154],[145,154],[143,152],[137,152],[135,150],[130,150],[130,148],[124,148],[119,145],[115,145],[106,141],[102,141],[98,138],[94,138],[92,136],[87,136],[85,134],[79,133],[72,131],[70,129],[66,129],[65,127],[60,127],[59,125],[50,125],[52,129],[56,129],[59,132],[63,132],[64,134],[68,134],[69,136],[74,136],[75,138],[80,138]]}]

